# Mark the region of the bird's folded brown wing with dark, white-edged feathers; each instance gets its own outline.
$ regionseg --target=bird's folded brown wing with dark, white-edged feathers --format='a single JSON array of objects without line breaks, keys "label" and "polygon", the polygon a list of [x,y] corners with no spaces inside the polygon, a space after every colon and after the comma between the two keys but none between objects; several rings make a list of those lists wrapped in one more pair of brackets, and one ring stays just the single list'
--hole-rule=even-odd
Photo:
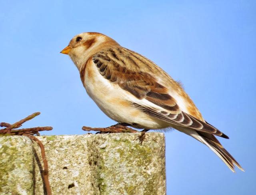
[{"label": "bird's folded brown wing with dark, white-edged feathers", "polygon": [[98,52],[92,60],[104,78],[138,100],[132,103],[144,113],[173,125],[228,138],[212,125],[182,111],[168,88],[144,71],[150,70],[147,63],[152,62],[143,56],[125,48],[111,48]]}]

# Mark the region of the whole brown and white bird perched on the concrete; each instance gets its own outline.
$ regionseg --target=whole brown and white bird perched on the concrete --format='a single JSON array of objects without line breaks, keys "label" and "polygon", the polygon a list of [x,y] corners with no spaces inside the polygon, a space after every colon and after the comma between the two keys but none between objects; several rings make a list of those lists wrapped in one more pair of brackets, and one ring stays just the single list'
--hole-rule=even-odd
[{"label": "whole brown and white bird perched on the concrete", "polygon": [[84,32],[60,53],[68,54],[80,72],[87,94],[111,119],[144,129],[177,129],[208,146],[235,172],[241,165],[216,136],[229,139],[203,117],[182,85],[148,58],[114,39]]}]

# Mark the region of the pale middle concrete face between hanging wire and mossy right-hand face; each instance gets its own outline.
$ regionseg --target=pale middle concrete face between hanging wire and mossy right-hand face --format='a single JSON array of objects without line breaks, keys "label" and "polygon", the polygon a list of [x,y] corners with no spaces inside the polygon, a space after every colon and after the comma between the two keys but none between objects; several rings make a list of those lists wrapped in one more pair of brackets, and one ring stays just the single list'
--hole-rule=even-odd
[{"label": "pale middle concrete face between hanging wire and mossy right-hand face", "polygon": [[[94,195],[94,172],[88,162],[88,135],[38,137],[44,144],[52,194]],[[40,154],[40,149],[36,146]],[[40,170],[36,167],[36,194],[44,194]],[[98,193],[99,194],[99,193]]]}]

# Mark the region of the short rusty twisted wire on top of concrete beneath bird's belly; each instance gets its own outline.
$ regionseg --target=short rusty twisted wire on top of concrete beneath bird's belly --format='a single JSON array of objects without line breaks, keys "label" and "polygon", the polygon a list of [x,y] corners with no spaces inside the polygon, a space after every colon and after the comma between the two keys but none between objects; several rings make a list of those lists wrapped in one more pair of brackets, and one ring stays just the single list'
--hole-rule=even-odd
[{"label": "short rusty twisted wire on top of concrete beneath bird's belly", "polygon": [[92,127],[83,126],[82,129],[84,131],[97,131],[96,134],[98,134],[98,133],[136,133],[136,132],[138,132],[135,129],[126,127],[128,125],[130,125],[130,124],[117,123],[116,125],[112,125],[112,126],[106,127],[106,128],[92,128]]}]

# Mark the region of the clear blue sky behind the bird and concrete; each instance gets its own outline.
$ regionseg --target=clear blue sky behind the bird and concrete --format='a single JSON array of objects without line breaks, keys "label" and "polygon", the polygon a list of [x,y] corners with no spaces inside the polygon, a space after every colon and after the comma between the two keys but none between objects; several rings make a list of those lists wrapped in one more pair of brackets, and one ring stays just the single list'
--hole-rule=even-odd
[{"label": "clear blue sky behind the bird and concrete", "polygon": [[167,194],[252,195],[256,191],[256,2],[1,1],[0,121],[35,111],[24,127],[83,134],[114,124],[86,94],[59,52],[81,32],[101,32],[154,61],[184,84],[222,144],[246,172],[232,173],[206,146],[166,135]]}]

